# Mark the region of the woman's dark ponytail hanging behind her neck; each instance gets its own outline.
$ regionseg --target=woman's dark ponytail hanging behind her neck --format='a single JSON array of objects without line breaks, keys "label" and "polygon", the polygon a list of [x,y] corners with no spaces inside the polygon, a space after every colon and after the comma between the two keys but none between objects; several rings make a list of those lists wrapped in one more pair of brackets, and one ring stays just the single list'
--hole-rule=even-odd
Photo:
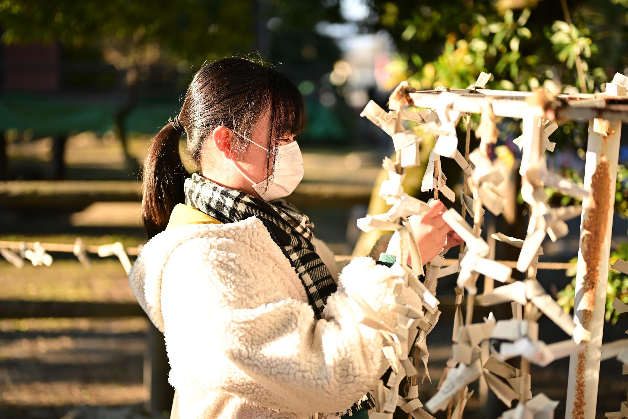
[{"label": "woman's dark ponytail hanging behind her neck", "polygon": [[182,131],[177,117],[161,128],[148,148],[142,179],[142,218],[148,240],[166,229],[172,209],[185,201],[183,182],[188,172],[179,154]]}]

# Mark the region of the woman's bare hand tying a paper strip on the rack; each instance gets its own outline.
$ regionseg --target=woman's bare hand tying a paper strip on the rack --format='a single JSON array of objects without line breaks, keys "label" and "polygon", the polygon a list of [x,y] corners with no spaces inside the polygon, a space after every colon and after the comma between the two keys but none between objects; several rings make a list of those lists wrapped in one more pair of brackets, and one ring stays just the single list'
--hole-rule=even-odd
[{"label": "woman's bare hand tying a paper strip on the rack", "polygon": [[[421,259],[423,263],[430,262],[437,254],[443,250],[445,238],[447,238],[447,247],[455,246],[457,240],[460,239],[450,226],[443,220],[443,210],[445,206],[441,201],[433,200],[429,203],[431,210],[423,215],[412,215],[408,217],[414,239],[417,242]],[[449,242],[450,237],[452,239]],[[459,244],[460,242],[458,242]],[[396,254],[399,247],[399,233],[395,232],[391,241],[388,243],[386,253]],[[409,262],[409,260],[408,260]]]}]

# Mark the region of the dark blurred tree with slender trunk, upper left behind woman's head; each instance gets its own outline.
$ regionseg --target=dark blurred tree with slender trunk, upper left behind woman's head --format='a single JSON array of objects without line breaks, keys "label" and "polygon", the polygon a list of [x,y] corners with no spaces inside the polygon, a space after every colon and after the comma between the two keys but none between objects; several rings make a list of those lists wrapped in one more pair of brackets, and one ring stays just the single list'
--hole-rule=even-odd
[{"label": "dark blurred tree with slender trunk, upper left behind woman's head", "polygon": [[[138,102],[138,92],[150,89],[149,77],[169,80],[175,76],[173,70],[178,70],[184,77],[175,80],[179,89],[184,89],[203,62],[240,55],[284,64],[281,70],[294,77],[297,84],[307,79],[312,86],[318,85],[340,57],[340,50],[315,26],[322,20],[340,21],[340,13],[337,1],[315,3],[0,0],[0,40],[6,45],[59,42],[64,62],[104,60],[122,71],[127,99],[118,111],[116,125],[127,152],[124,121]],[[156,67],[162,69],[162,75]],[[117,87],[111,74],[92,72],[73,77],[82,77],[86,86],[102,82],[106,89]],[[335,115],[328,109],[321,110],[318,100],[306,100],[313,114],[320,115],[318,119],[327,113]],[[336,110],[342,115],[344,103],[338,102]],[[344,132],[341,119],[333,122],[330,126],[337,128],[335,131]]]}]

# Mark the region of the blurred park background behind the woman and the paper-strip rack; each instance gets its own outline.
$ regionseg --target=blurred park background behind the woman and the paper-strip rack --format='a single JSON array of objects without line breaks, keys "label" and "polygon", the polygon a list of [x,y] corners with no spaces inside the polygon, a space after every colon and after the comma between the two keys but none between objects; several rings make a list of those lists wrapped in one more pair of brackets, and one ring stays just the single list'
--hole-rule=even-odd
[{"label": "blurred park background behind the woman and the paper-strip rack", "polygon": [[[305,178],[289,200],[337,255],[364,255],[380,232],[360,234],[355,220],[385,210],[377,196],[381,161],[393,153],[390,138],[359,116],[367,101],[386,108],[403,80],[424,90],[465,88],[481,71],[492,73],[487,87],[494,89],[600,92],[615,72],[628,74],[627,20],[626,0],[0,1],[0,418],[168,414],[163,337],[148,327],[121,260],[95,253],[120,242],[133,263],[146,242],[139,215],[146,150],[178,114],[203,62],[263,59],[293,79],[308,128],[298,137]],[[512,143],[520,121],[498,126],[493,152],[509,175],[509,204],[504,216],[487,213],[485,231],[522,238],[521,155]],[[582,179],[587,130],[588,123],[567,123],[553,133],[548,160],[555,172]],[[425,200],[420,182],[430,141],[424,138],[423,164],[404,185]],[[620,163],[627,160],[622,147]],[[460,171],[448,162],[443,170],[460,191]],[[628,259],[627,179],[620,165],[611,262]],[[573,203],[547,193],[555,205]],[[544,243],[541,260],[562,262],[560,269],[539,271],[566,310],[573,305],[575,271],[567,268],[577,256],[579,218],[569,225],[568,237]],[[43,265],[15,259],[35,242],[53,257],[50,265],[41,253],[34,258]],[[516,259],[493,246],[496,259]],[[628,301],[628,277],[614,272],[609,279],[609,301]],[[428,338],[433,383],[421,387],[422,400],[435,393],[450,356],[453,284],[448,277],[438,290],[443,315]],[[507,318],[509,310],[494,311]],[[477,320],[487,313],[477,310]],[[609,311],[607,320],[605,339],[622,337],[625,319]],[[566,338],[561,333],[541,320],[546,342]],[[560,400],[558,416],[567,365],[532,370],[533,394]],[[619,365],[602,364],[600,415],[625,400]],[[501,401],[477,390],[465,417],[499,416]]]}]

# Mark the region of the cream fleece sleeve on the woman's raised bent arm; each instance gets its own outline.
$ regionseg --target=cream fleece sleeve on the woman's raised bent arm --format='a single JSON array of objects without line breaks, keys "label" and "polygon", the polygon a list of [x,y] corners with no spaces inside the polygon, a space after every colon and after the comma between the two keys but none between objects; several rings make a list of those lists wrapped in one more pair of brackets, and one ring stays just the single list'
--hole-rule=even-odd
[{"label": "cream fleece sleeve on the woman's raised bent arm", "polygon": [[[358,323],[362,311],[350,296],[360,294],[394,327],[386,287],[377,283],[389,276],[388,267],[370,257],[354,259],[340,272],[338,291],[317,320],[308,303],[286,298],[272,278],[253,279],[238,267],[239,255],[197,249],[183,244],[175,250],[171,259],[199,262],[188,263],[185,272],[171,264],[162,285],[175,388],[184,381],[206,385],[292,412],[344,411],[374,388],[388,367],[384,338]],[[414,291],[403,292],[409,303],[420,304]]]}]

